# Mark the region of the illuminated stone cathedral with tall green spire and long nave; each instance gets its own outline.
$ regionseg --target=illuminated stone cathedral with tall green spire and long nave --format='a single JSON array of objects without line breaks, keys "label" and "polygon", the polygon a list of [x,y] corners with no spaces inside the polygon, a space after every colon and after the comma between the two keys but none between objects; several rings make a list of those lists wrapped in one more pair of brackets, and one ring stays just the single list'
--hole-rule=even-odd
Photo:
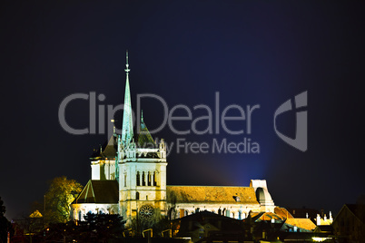
[{"label": "illuminated stone cathedral with tall green spire and long nave", "polygon": [[234,219],[252,212],[273,212],[266,180],[251,180],[250,187],[166,185],[166,146],[153,141],[143,114],[134,134],[129,87],[128,53],[122,134],[115,129],[107,143],[91,158],[92,175],[71,204],[72,219],[92,213],[120,214],[130,224],[162,217],[178,219],[208,210]]}]

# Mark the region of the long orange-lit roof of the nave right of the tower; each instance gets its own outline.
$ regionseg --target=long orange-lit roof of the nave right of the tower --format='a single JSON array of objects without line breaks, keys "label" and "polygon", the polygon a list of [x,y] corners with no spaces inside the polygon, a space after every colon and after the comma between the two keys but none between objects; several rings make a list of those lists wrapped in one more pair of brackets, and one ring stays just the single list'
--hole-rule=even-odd
[{"label": "long orange-lit roof of the nave right of the tower", "polygon": [[167,186],[168,200],[176,202],[259,204],[251,187]]}]

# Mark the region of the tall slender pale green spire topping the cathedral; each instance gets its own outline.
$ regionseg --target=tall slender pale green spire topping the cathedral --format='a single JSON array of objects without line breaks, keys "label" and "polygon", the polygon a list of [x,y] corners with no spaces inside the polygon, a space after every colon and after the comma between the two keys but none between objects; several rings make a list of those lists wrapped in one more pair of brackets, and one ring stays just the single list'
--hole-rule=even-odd
[{"label": "tall slender pale green spire topping the cathedral", "polygon": [[131,92],[129,90],[129,63],[128,63],[128,51],[126,52],[126,64],[125,69],[125,93],[124,93],[124,110],[123,110],[123,126],[122,126],[122,142],[125,146],[133,138],[133,120],[132,120],[132,104],[131,104]]}]

